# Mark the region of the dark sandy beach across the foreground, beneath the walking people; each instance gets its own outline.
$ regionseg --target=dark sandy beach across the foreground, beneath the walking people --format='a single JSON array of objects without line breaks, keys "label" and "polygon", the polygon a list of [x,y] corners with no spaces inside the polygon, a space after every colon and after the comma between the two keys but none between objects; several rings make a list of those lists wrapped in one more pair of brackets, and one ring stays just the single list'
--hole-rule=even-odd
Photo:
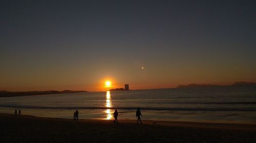
[{"label": "dark sandy beach across the foreground, beneath the walking people", "polygon": [[0,113],[0,142],[256,142],[255,125],[131,122],[135,121],[114,124]]}]

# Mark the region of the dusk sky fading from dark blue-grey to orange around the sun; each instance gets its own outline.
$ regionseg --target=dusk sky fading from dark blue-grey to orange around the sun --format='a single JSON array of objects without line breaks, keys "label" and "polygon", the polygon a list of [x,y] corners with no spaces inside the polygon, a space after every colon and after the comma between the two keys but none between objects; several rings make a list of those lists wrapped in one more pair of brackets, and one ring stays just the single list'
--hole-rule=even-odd
[{"label": "dusk sky fading from dark blue-grey to orange around the sun", "polygon": [[1,1],[0,90],[255,82],[255,25],[256,1]]}]

